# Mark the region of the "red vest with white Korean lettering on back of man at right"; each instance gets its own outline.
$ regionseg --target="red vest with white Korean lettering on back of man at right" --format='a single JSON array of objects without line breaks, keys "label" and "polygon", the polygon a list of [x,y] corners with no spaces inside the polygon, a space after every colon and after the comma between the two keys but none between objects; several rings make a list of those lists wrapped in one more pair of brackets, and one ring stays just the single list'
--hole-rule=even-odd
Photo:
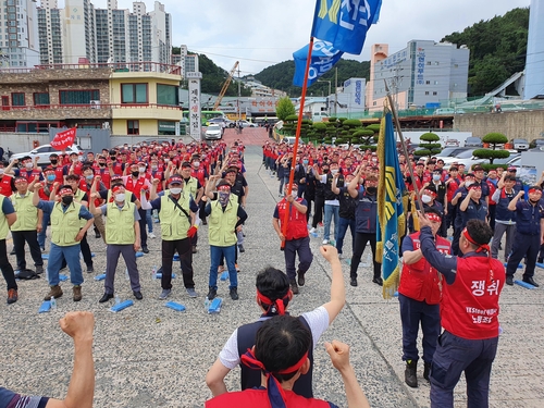
[{"label": "red vest with white Korean lettering on back of man at right", "polygon": [[[490,261],[493,281],[490,280]],[[442,287],[442,326],[468,339],[498,336],[498,295],[505,276],[505,268],[497,259],[458,258],[454,284]]]}]

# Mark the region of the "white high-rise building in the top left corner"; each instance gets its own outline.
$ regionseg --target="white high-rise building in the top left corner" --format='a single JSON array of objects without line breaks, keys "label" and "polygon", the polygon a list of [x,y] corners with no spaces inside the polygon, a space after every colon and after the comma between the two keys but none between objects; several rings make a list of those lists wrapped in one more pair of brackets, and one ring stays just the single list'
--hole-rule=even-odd
[{"label": "white high-rise building in the top left corner", "polygon": [[33,0],[4,0],[0,8],[0,66],[39,65],[38,15]]}]

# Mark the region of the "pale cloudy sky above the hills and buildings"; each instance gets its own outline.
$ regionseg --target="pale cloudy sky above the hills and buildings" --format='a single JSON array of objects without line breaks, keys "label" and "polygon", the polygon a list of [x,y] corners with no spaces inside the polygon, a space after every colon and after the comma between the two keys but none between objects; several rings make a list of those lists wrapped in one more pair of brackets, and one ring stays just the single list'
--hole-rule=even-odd
[{"label": "pale cloudy sky above the hills and buildings", "polygon": [[[106,0],[91,0],[106,8]],[[153,8],[145,0],[147,10]],[[230,71],[240,62],[240,74],[256,74],[269,65],[293,59],[309,42],[316,0],[162,0],[173,20],[173,45],[206,53]],[[361,55],[370,59],[372,44],[390,45],[390,53],[412,39],[440,41],[445,35],[511,9],[529,7],[530,0],[383,0],[380,21],[367,36]],[[132,1],[119,0],[132,10]]]}]

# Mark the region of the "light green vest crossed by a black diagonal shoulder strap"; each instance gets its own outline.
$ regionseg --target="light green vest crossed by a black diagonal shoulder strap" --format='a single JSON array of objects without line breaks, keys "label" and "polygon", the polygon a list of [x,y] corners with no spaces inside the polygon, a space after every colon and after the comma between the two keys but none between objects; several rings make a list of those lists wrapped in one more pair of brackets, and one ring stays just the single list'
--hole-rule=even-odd
[{"label": "light green vest crossed by a black diagonal shoulder strap", "polygon": [[[170,194],[164,194],[164,196],[161,197],[160,220],[162,239],[185,239],[187,237],[187,231],[190,228],[191,223],[187,215],[185,215],[183,211],[181,211],[177,206],[172,202],[169,196]],[[190,215],[189,201],[189,195],[182,193],[180,195],[177,203],[187,212],[187,214]]]}]

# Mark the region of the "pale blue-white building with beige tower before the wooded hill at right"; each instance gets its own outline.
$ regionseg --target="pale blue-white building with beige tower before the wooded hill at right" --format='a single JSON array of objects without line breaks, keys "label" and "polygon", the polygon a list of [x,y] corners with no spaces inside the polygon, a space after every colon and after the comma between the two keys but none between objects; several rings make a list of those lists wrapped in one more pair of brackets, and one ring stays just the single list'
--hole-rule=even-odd
[{"label": "pale blue-white building with beige tower before the wooded hill at right", "polygon": [[398,109],[438,104],[442,100],[466,98],[469,54],[466,46],[412,40],[391,55],[387,45],[373,45],[367,107],[383,109],[384,79]]}]

